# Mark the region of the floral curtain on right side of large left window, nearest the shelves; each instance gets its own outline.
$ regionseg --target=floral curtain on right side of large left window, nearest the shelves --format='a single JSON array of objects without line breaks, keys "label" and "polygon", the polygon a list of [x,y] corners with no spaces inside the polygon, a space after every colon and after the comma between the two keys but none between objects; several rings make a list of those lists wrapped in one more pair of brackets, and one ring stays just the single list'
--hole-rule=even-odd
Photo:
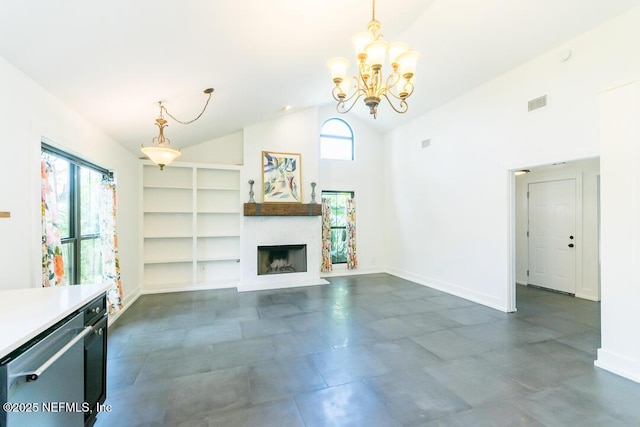
[{"label": "floral curtain on right side of large left window, nearest the shelves", "polygon": [[112,177],[102,179],[100,239],[102,240],[102,280],[111,285],[107,290],[109,313],[122,309],[122,281],[116,231],[116,184]]}]

